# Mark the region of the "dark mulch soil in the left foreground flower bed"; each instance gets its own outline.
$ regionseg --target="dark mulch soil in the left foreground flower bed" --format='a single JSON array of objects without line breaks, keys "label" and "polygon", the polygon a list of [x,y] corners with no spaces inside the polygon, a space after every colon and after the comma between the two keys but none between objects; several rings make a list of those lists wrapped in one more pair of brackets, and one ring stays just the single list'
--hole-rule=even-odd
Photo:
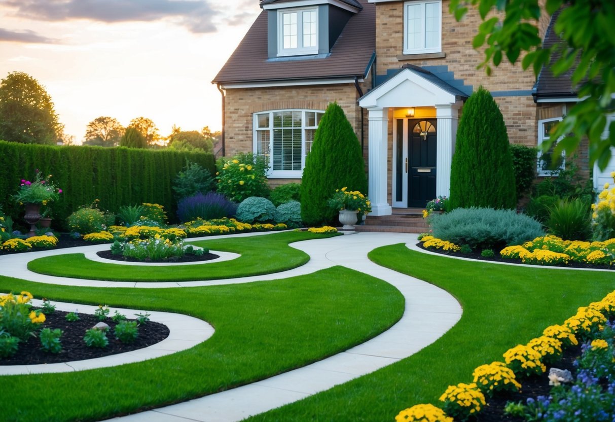
[{"label": "dark mulch soil in the left foreground flower bed", "polygon": [[32,337],[26,342],[19,343],[19,349],[15,356],[0,359],[0,365],[55,364],[58,362],[71,362],[73,360],[93,359],[95,357],[142,349],[156,344],[169,336],[169,328],[166,325],[148,321],[138,327],[139,335],[137,340],[130,344],[124,344],[113,335],[113,329],[117,323],[108,318],[105,320],[105,323],[109,325],[107,332],[108,346],[104,349],[89,348],[85,345],[83,336],[85,335],[85,330],[89,330],[98,323],[97,317],[90,314],[79,314],[80,320],[69,322],[65,319],[66,314],[66,312],[62,311],[46,314],[46,320],[42,325],[42,328],[60,328],[63,331],[60,337],[62,352],[58,354],[43,352],[40,339]]}]

